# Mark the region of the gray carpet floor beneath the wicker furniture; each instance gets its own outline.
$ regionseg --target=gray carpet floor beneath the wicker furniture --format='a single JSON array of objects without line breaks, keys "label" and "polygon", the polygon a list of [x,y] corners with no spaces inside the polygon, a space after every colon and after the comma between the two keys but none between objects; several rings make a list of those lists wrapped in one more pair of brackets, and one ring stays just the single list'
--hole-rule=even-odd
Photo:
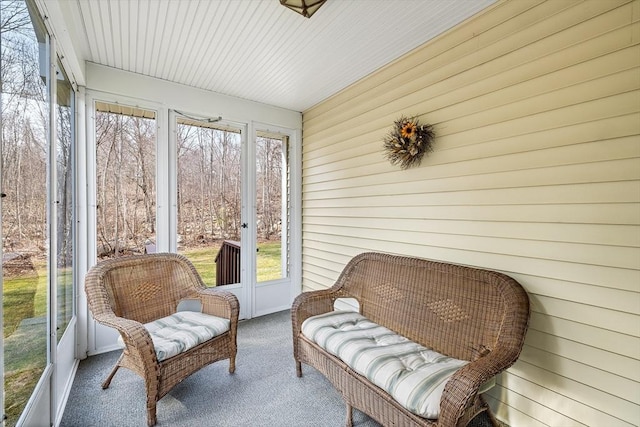
[{"label": "gray carpet floor beneath the wicker furniture", "polygon": [[[120,369],[102,390],[119,352],[80,362],[60,427],[145,427],[142,379]],[[217,362],[178,384],[158,402],[158,426],[344,426],[340,394],[315,369],[296,377],[289,311],[241,321],[236,372]],[[379,427],[354,410],[354,426]],[[477,422],[476,422],[477,421]],[[488,425],[474,420],[474,426]]]}]

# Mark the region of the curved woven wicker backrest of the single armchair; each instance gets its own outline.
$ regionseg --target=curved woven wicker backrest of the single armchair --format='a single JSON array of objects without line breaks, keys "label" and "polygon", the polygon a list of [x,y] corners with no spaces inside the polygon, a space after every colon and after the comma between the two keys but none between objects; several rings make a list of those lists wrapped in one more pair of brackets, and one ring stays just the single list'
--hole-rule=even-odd
[{"label": "curved woven wicker backrest of the single armchair", "polygon": [[171,253],[105,260],[92,267],[85,278],[94,317],[113,312],[141,323],[175,313],[180,300],[203,288],[193,264]]}]

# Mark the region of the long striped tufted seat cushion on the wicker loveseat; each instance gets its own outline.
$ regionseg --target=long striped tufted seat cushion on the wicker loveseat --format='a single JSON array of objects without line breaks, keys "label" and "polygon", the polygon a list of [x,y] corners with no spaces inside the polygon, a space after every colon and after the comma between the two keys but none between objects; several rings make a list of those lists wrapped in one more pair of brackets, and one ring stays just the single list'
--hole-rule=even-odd
[{"label": "long striped tufted seat cushion on the wicker loveseat", "polygon": [[428,419],[438,418],[445,384],[468,363],[423,347],[354,312],[310,317],[302,324],[302,333],[409,411]]}]

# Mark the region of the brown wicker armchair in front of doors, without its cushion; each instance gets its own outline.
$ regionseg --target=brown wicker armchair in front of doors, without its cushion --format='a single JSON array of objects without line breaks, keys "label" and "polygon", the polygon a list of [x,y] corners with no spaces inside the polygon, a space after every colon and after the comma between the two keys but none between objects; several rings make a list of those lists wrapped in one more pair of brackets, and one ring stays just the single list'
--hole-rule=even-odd
[{"label": "brown wicker armchair in front of doors, without its cushion", "polygon": [[[155,253],[102,261],[87,273],[85,290],[95,320],[117,329],[125,345],[102,388],[109,387],[120,367],[140,375],[149,426],[156,423],[158,400],[189,375],[224,359],[229,359],[229,372],[235,371],[238,300],[230,292],[207,289],[185,257]],[[198,300],[202,313],[229,319],[229,330],[159,361],[143,324],[175,313],[185,300]]]}]

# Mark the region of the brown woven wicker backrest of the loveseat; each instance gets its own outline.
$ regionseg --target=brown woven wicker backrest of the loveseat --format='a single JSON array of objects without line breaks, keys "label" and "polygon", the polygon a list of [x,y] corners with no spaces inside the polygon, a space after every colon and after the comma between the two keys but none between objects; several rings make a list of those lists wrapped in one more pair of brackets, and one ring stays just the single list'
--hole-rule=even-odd
[{"label": "brown woven wicker backrest of the loveseat", "polygon": [[370,320],[434,350],[476,360],[522,348],[529,299],[493,271],[381,253],[354,257],[333,287]]}]

